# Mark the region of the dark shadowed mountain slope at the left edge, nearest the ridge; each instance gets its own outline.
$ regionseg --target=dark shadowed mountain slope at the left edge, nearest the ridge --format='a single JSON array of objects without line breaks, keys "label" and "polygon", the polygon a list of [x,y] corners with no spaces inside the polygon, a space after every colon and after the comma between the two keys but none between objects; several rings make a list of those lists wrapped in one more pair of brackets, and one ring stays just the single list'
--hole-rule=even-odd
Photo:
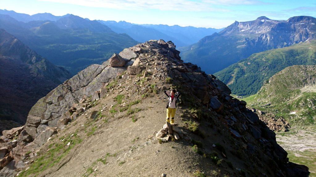
[{"label": "dark shadowed mountain slope at the left edge, nearest the ridge", "polygon": [[15,126],[3,121],[25,123],[36,101],[68,78],[70,73],[64,68],[0,29],[0,132]]}]

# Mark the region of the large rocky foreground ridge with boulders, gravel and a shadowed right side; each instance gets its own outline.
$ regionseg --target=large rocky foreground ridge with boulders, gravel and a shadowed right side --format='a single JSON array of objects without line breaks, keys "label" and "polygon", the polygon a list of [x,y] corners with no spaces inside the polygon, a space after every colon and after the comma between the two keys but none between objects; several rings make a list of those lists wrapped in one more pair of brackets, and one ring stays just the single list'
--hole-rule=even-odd
[{"label": "large rocky foreground ridge with boulders, gravel and a shadowed right side", "polygon": [[[160,144],[155,130],[165,121],[162,93],[171,87],[181,92],[176,119],[181,129],[166,124],[160,132],[191,138]],[[307,167],[288,162],[275,134],[246,102],[229,94],[216,77],[183,63],[171,41],[137,44],[80,71],[40,99],[24,127],[4,132],[6,165],[1,163],[0,175],[148,176],[179,162],[168,176],[308,176]],[[110,153],[104,156],[100,148]]]}]

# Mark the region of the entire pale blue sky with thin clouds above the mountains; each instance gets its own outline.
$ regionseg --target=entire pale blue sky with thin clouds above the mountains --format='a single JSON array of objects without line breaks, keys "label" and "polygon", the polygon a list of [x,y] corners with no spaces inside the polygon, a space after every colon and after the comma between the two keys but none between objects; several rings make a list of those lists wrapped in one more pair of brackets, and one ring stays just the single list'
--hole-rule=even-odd
[{"label": "entire pale blue sky with thin clouds above the mountains", "polygon": [[0,0],[0,9],[31,15],[48,12],[90,20],[213,28],[259,16],[274,20],[298,15],[316,17],[315,0]]}]

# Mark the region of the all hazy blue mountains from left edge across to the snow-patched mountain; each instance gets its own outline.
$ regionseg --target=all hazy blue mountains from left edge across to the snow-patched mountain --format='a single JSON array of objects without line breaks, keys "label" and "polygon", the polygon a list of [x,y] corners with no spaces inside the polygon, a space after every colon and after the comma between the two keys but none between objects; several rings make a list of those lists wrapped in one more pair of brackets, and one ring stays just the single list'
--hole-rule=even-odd
[{"label": "all hazy blue mountains from left edge across to the snow-patched mountain", "polygon": [[164,39],[174,41],[177,46],[185,46],[222,30],[89,20],[72,14],[28,15],[12,10],[0,10],[0,28],[53,64],[63,66],[71,75],[91,64],[101,64],[113,53],[138,42]]}]

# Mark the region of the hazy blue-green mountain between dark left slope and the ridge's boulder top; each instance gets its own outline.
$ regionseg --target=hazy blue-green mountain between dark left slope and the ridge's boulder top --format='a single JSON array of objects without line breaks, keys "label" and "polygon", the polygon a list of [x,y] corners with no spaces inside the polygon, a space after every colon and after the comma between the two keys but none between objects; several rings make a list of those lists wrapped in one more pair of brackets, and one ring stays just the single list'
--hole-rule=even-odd
[{"label": "hazy blue-green mountain between dark left slope and the ridge's boulder top", "polygon": [[27,23],[0,14],[0,28],[27,44],[71,75],[87,66],[109,59],[113,53],[137,44],[126,34],[117,34],[96,20],[65,15],[57,21]]}]

